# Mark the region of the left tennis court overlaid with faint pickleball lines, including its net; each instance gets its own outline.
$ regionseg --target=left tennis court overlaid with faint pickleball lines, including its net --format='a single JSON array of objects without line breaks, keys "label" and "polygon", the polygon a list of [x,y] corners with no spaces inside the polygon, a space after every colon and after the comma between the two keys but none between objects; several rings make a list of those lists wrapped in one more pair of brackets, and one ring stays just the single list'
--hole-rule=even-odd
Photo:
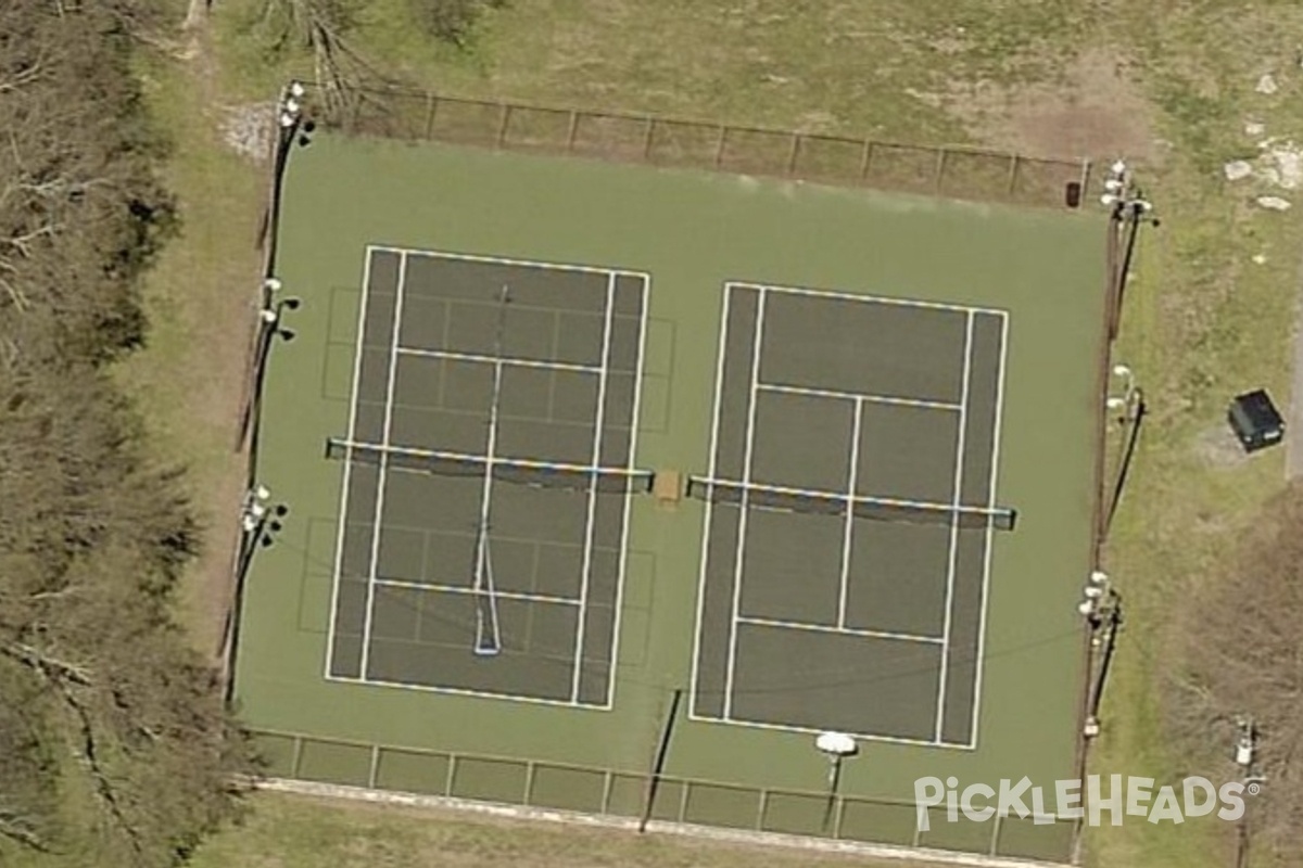
[{"label": "left tennis court overlaid with faint pickleball lines, including its net", "polygon": [[610,707],[646,288],[367,249],[327,678]]}]

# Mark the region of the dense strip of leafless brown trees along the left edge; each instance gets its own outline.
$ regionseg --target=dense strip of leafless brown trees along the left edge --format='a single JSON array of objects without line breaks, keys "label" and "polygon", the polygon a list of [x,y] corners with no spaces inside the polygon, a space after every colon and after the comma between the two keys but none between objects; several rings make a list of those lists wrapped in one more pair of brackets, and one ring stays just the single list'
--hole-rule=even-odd
[{"label": "dense strip of leafless brown trees along the left edge", "polygon": [[[104,363],[175,224],[129,0],[0,4],[0,863],[177,864],[245,739],[172,621],[197,534]],[[89,822],[87,822],[89,819]]]}]

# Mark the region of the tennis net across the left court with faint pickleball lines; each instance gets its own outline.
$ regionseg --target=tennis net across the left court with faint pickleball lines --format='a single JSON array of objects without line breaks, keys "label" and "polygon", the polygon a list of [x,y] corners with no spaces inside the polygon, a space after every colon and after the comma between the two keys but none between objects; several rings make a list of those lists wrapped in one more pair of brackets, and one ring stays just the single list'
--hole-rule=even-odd
[{"label": "tennis net across the left court with faint pickleball lines", "polygon": [[435,476],[483,478],[491,474],[494,481],[588,492],[595,488],[603,495],[641,495],[652,491],[654,474],[623,467],[588,467],[582,465],[554,463],[528,458],[490,458],[457,452],[413,449],[409,446],[380,446],[370,442],[351,442],[337,437],[326,441],[326,457],[365,465],[383,465],[400,470],[414,470]]}]

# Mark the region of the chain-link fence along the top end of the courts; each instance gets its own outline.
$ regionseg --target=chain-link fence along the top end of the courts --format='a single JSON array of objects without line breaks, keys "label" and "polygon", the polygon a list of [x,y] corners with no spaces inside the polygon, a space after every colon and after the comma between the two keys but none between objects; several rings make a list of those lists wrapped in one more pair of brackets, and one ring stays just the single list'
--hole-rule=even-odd
[{"label": "chain-link fence along the top end of the courts", "polygon": [[950,199],[1063,208],[1089,189],[1088,160],[1019,156],[813,133],[365,90],[330,102],[326,121],[354,134],[588,156],[662,167],[872,187]]}]

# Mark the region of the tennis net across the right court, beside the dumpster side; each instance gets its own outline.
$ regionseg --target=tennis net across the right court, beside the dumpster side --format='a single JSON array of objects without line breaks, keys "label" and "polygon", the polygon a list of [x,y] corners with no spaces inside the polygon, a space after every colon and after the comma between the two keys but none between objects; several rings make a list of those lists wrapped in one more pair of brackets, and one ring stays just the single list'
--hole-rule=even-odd
[{"label": "tennis net across the right court, beside the dumpster side", "polygon": [[1011,531],[1018,519],[1018,511],[1005,508],[984,509],[977,506],[952,506],[950,504],[925,504],[921,501],[893,500],[887,497],[866,497],[860,495],[786,488],[761,483],[740,483],[723,479],[688,479],[688,497],[711,504],[732,504],[770,509],[783,513],[807,513],[816,515],[846,517],[850,510],[855,518],[880,522],[908,522],[913,524],[951,524],[959,527]]}]

